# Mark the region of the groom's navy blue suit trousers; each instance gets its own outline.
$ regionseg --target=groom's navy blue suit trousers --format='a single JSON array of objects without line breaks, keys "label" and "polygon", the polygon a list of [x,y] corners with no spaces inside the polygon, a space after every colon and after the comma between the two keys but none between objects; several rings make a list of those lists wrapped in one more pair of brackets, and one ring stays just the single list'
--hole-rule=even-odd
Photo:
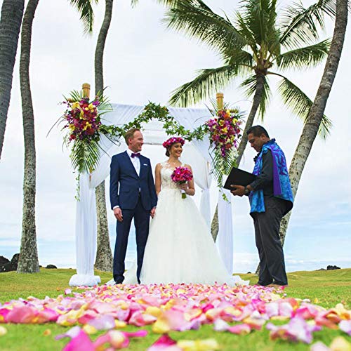
[{"label": "groom's navy blue suit trousers", "polygon": [[131,229],[131,221],[134,218],[136,251],[137,251],[137,279],[140,282],[140,272],[143,265],[143,258],[147,237],[149,236],[150,211],[145,210],[139,197],[138,204],[132,210],[122,209],[123,221],[117,220],[117,237],[114,245],[113,258],[113,278],[116,283],[124,281],[124,260],[126,259],[126,251],[128,244],[129,230]]}]

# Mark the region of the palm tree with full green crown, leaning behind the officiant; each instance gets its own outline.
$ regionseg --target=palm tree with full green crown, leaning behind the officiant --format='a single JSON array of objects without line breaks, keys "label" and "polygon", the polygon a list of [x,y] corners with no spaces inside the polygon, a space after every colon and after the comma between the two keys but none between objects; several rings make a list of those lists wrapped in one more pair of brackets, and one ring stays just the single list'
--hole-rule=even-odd
[{"label": "palm tree with full green crown, leaning behind the officiant", "polygon": [[[243,1],[234,20],[230,20],[227,15],[214,13],[204,1],[178,0],[164,19],[169,28],[183,31],[213,48],[223,61],[221,67],[201,69],[195,79],[173,91],[172,105],[186,107],[204,100],[239,78],[241,88],[253,98],[238,147],[237,165],[246,148],[246,131],[258,111],[264,117],[270,101],[268,77],[279,79],[278,91],[283,102],[305,121],[312,100],[282,73],[291,68],[314,67],[329,50],[329,40],[318,41],[318,29],[324,27],[324,13],[334,14],[333,0],[319,0],[308,8],[289,6],[282,11],[279,21],[276,8],[276,0]],[[326,137],[330,126],[324,116],[319,133]],[[216,239],[217,208],[211,232]]]}]

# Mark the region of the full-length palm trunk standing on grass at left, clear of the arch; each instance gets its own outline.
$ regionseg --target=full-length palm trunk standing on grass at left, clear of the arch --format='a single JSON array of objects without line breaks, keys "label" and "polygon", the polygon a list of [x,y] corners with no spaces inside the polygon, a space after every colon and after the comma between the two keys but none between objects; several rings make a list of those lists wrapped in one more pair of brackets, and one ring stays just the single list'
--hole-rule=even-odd
[{"label": "full-length palm trunk standing on grass at left, clear of the arch", "polygon": [[34,112],[29,81],[32,24],[39,0],[29,0],[23,17],[20,55],[23,132],[25,136],[25,173],[23,179],[22,239],[18,273],[39,272],[37,234],[35,227],[36,156]]}]

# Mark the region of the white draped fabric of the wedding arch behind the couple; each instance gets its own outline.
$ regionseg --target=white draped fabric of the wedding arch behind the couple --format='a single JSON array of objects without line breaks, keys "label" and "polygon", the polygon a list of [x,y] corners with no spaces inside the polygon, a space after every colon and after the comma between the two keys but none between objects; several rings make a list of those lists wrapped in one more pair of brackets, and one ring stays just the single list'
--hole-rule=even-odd
[{"label": "white draped fabric of the wedding arch behind the couple", "polygon": [[[88,85],[86,84],[85,87]],[[218,105],[223,107],[223,94],[217,94]],[[111,104],[112,111],[104,115],[104,124],[107,126],[126,126],[145,111],[145,106]],[[181,128],[194,131],[206,120],[211,118],[208,109],[175,108],[167,107],[168,115],[173,117]],[[161,145],[169,135],[164,131],[164,124],[157,120],[157,116],[142,124],[144,145]],[[114,140],[101,135],[99,140],[100,155],[98,166],[91,173],[79,175],[79,187],[76,211],[76,254],[77,274],[69,280],[70,286],[93,286],[100,283],[100,277],[94,275],[94,261],[96,254],[97,239],[97,215],[95,205],[95,187],[97,187],[110,174],[111,157],[114,154],[126,150],[124,140],[116,143]],[[201,201],[199,210],[204,216],[210,231],[211,208],[210,187],[212,181],[211,143],[208,138],[192,139],[185,143],[182,161],[191,164],[194,173],[194,181],[201,189]],[[151,160],[152,161],[152,160]],[[153,162],[152,162],[153,163]],[[220,190],[218,196],[218,237],[216,245],[220,256],[232,273],[233,270],[233,229],[232,229],[232,204],[231,197],[223,198]]]}]

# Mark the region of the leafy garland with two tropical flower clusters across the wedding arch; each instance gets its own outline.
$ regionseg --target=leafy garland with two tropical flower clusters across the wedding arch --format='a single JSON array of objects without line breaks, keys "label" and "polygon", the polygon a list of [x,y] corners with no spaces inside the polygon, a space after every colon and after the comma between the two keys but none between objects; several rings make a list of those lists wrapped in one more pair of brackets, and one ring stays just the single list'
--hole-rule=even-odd
[{"label": "leafy garland with two tropical flower clusters across the wedding arch", "polygon": [[[65,122],[65,126],[62,128],[62,130],[69,131],[64,138],[66,145],[68,145],[68,143],[73,143],[70,158],[74,171],[78,171],[77,183],[79,183],[79,176],[81,173],[91,173],[95,170],[96,166],[98,166],[100,150],[102,150],[98,143],[100,140],[100,135],[105,135],[113,143],[120,143],[119,140],[124,138],[126,131],[131,128],[143,129],[142,124],[147,124],[147,122],[150,122],[152,119],[157,119],[157,121],[161,121],[163,123],[162,128],[167,135],[181,136],[187,141],[203,140],[204,135],[209,136],[211,145],[215,146],[213,152],[211,153],[211,158],[213,161],[213,176],[216,178],[220,189],[223,186],[223,176],[227,176],[230,169],[232,169],[232,166],[235,165],[235,147],[230,145],[230,150],[227,150],[225,154],[223,154],[223,150],[221,151],[220,149],[220,147],[223,149],[223,145],[225,145],[223,143],[225,140],[227,140],[226,143],[229,143],[229,139],[225,134],[225,131],[221,131],[222,122],[220,119],[223,119],[223,116],[225,116],[225,118],[230,117],[231,121],[232,119],[235,119],[235,121],[241,119],[242,114],[237,109],[230,110],[230,112],[226,110],[226,107],[223,110],[217,110],[215,107],[213,112],[208,110],[209,114],[212,114],[212,119],[210,119],[210,117],[205,124],[195,128],[193,131],[190,131],[189,129],[184,128],[184,126],[181,126],[176,119],[169,114],[167,107],[157,105],[154,102],[149,102],[149,104],[145,106],[143,112],[139,114],[138,117],[135,117],[133,121],[122,126],[107,126],[106,124],[102,123],[102,118],[100,117],[102,114],[112,111],[112,106],[108,100],[103,97],[103,95],[98,95],[95,97],[93,102],[89,102],[88,99],[82,97],[82,93],[74,91],[71,93],[71,97],[66,99],[66,101],[67,110],[65,114],[60,117],[59,121]],[[78,102],[79,106],[77,105]],[[95,102],[98,106],[97,109],[93,107],[93,105],[88,105]],[[89,110],[89,106],[91,107],[91,110]],[[84,117],[81,117],[83,115]],[[89,118],[91,119],[91,124],[88,124],[88,126],[95,126],[97,121],[98,124],[95,126],[94,133],[85,135],[82,133],[86,133],[85,126],[89,122]],[[223,121],[225,121],[225,118]],[[93,124],[93,122],[95,122],[95,124]],[[84,124],[84,126],[81,124]],[[217,126],[217,124],[220,124],[220,126]],[[235,124],[231,124],[231,126],[235,126]],[[218,134],[218,131],[219,133],[222,133],[219,142],[213,138],[213,135],[216,133]],[[72,136],[72,133],[75,134]],[[239,130],[237,131],[237,134],[238,133]],[[81,138],[79,138],[79,135],[81,135]],[[240,136],[241,135],[239,135],[239,137]],[[224,193],[223,197],[225,197]]]}]

